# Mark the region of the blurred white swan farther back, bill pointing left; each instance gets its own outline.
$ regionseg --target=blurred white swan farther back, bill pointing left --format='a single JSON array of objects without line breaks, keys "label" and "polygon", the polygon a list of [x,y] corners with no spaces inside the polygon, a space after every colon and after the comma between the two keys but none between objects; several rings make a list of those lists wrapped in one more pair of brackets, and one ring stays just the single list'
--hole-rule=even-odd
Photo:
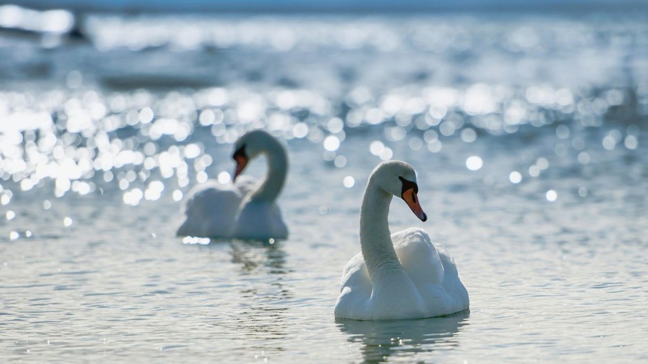
[{"label": "blurred white swan farther back, bill pointing left", "polygon": [[[233,183],[208,181],[199,185],[185,205],[187,219],[178,236],[212,239],[286,239],[288,229],[276,199],[286,179],[286,150],[263,130],[247,132],[236,141]],[[268,163],[265,181],[240,176],[248,161],[264,154]]]}]

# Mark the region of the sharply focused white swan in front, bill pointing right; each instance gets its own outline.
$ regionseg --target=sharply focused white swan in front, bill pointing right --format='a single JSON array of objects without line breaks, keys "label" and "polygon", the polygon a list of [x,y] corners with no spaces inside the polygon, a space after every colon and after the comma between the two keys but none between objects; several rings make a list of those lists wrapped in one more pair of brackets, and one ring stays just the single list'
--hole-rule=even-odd
[{"label": "sharply focused white swan in front, bill pointing right", "polygon": [[336,317],[423,319],[467,310],[468,292],[443,245],[419,228],[389,234],[392,195],[427,220],[417,193],[416,172],[405,162],[383,162],[369,176],[360,212],[362,250],[344,268]]}]

